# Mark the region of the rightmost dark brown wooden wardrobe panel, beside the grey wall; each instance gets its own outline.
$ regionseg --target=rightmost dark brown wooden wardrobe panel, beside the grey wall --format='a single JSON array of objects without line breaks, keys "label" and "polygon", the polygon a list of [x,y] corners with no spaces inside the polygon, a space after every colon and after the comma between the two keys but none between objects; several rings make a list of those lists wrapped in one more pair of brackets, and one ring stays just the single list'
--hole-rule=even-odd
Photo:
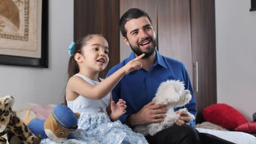
[{"label": "rightmost dark brown wooden wardrobe panel, beside the grey wall", "polygon": [[196,122],[201,123],[204,108],[217,102],[214,0],[191,1],[191,38],[193,62],[198,63],[198,87],[196,78],[194,84]]}]

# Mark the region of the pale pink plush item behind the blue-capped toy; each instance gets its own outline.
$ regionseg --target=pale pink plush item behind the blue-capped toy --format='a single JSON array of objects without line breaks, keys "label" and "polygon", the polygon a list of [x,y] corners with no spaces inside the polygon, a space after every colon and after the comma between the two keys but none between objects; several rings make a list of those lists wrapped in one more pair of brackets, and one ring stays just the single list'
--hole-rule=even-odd
[{"label": "pale pink plush item behind the blue-capped toy", "polygon": [[36,117],[42,120],[46,120],[49,115],[52,113],[53,108],[56,105],[47,105],[45,107],[41,107],[39,105],[34,105],[33,107],[31,107],[31,111],[34,111],[34,113],[36,114]]}]

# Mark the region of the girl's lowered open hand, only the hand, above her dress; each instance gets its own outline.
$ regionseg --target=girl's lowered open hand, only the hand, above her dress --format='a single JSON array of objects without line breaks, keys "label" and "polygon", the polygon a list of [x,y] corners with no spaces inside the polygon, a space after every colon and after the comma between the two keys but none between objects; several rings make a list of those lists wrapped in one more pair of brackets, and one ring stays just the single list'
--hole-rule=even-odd
[{"label": "girl's lowered open hand, only the hand, above her dress", "polygon": [[115,104],[115,101],[111,101],[111,119],[117,120],[120,116],[126,113],[126,105],[125,101],[119,99],[119,101]]}]

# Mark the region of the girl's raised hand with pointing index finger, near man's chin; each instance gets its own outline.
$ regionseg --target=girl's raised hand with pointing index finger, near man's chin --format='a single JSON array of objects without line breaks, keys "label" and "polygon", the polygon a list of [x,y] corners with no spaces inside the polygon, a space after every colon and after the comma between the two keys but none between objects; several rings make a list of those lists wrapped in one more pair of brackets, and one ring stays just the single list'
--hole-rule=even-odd
[{"label": "girl's raised hand with pointing index finger, near man's chin", "polygon": [[137,58],[134,58],[133,60],[126,63],[126,65],[123,67],[125,70],[125,74],[129,74],[133,70],[138,70],[142,68],[142,63],[139,61],[144,57],[145,53],[142,53]]}]

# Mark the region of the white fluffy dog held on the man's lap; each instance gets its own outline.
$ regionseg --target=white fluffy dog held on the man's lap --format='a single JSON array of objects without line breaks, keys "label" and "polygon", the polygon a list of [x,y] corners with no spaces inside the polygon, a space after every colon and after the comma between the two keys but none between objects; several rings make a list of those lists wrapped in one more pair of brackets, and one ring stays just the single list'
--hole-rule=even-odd
[{"label": "white fluffy dog held on the man's lap", "polygon": [[[166,82],[162,82],[157,89],[153,101],[155,100],[156,104],[162,103],[167,105],[167,113],[164,120],[161,123],[135,126],[134,131],[143,135],[154,135],[174,124],[180,118],[180,115],[174,112],[174,107],[181,107],[191,99],[190,91],[184,89],[185,86],[180,81],[167,80]],[[190,117],[190,121],[195,119],[195,116],[190,114],[187,108],[182,108],[179,111],[186,111]]]}]

